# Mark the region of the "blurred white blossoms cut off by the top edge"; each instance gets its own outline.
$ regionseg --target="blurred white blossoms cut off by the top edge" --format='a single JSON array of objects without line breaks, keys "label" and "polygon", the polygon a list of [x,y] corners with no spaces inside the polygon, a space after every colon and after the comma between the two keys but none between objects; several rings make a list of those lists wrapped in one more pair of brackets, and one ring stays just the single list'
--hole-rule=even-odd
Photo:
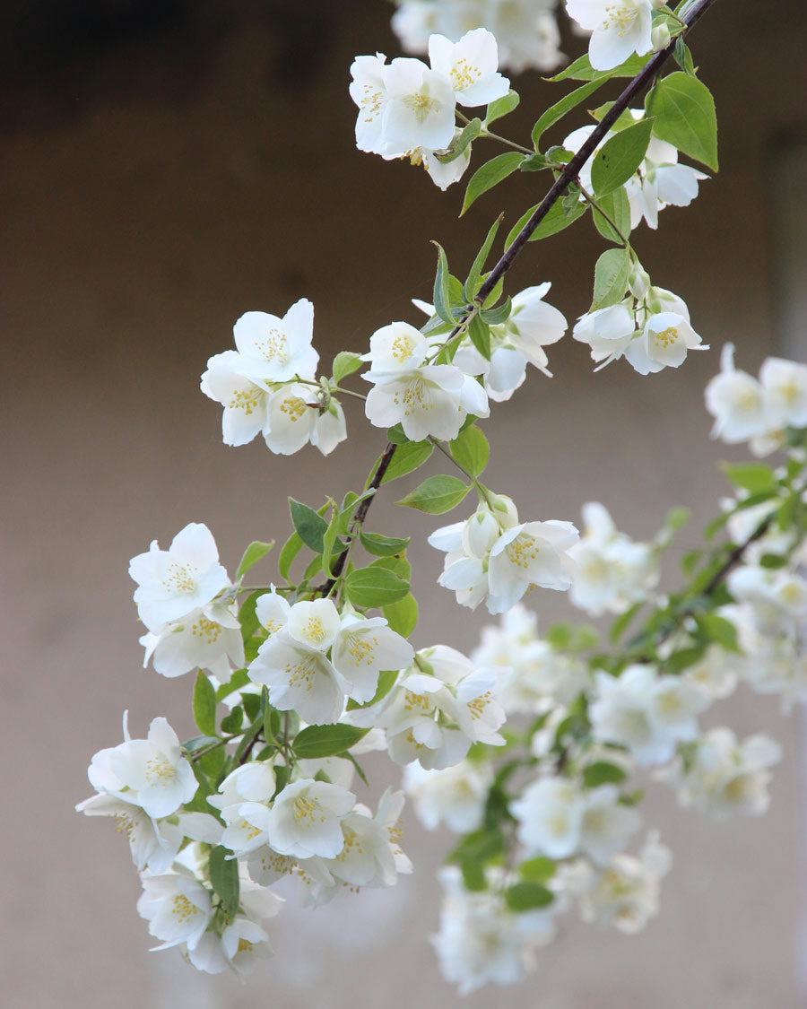
[{"label": "blurred white blossoms cut off by the top edge", "polygon": [[407,52],[427,52],[435,33],[459,38],[485,27],[498,42],[501,67],[514,74],[555,70],[564,60],[558,0],[395,0],[392,29]]}]

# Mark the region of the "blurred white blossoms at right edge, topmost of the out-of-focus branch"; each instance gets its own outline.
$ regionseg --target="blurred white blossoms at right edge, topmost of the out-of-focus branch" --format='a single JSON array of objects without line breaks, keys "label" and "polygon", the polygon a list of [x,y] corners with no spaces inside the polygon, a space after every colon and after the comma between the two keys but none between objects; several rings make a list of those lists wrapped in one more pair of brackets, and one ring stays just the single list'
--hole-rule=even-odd
[{"label": "blurred white blossoms at right edge, topmost of the out-of-focus branch", "polygon": [[782,447],[788,428],[807,427],[807,365],[768,357],[755,378],[734,367],[734,346],[726,343],[720,372],[706,386],[706,409],[712,438],[746,441],[755,455],[768,455]]}]

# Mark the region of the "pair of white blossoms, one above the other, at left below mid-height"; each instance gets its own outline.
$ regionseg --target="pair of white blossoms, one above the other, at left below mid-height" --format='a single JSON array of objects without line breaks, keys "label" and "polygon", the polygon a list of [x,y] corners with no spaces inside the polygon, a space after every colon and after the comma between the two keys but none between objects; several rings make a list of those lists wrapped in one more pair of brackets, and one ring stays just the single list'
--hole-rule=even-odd
[{"label": "pair of white blossoms, one above the other, at left below mid-height", "polygon": [[129,574],[138,585],[137,615],[148,629],[140,639],[144,666],[150,659],[163,676],[207,669],[229,679],[244,664],[238,606],[207,526],[190,523],[168,550],[154,540],[131,559]]}]

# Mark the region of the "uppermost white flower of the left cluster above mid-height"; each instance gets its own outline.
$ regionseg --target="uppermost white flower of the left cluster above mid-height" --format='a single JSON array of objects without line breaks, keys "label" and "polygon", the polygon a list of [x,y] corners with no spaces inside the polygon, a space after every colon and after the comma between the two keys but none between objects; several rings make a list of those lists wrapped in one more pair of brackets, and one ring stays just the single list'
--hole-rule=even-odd
[{"label": "uppermost white flower of the left cluster above mid-height", "polygon": [[266,312],[246,312],[233,327],[240,354],[239,371],[258,382],[314,378],[320,355],[312,347],[314,306],[306,298],[282,319]]}]

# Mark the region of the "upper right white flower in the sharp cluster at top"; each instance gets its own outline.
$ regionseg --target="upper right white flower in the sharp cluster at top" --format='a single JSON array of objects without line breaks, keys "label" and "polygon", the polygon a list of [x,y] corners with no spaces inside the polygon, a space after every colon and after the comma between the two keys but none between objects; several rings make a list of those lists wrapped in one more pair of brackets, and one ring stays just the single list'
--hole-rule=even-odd
[{"label": "upper right white flower in the sharp cluster at top", "polygon": [[466,32],[456,43],[445,35],[432,35],[429,62],[432,70],[451,81],[461,105],[488,105],[509,90],[509,81],[496,73],[496,39],[485,28]]}]

